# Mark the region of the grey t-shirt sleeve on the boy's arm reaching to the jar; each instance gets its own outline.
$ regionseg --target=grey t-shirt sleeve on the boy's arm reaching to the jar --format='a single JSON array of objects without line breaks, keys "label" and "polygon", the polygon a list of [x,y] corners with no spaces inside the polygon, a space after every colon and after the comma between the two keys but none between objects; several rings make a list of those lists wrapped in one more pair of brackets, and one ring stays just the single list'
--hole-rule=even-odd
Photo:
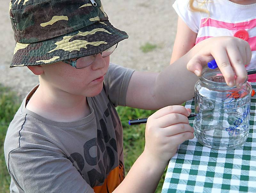
[{"label": "grey t-shirt sleeve on the boy's arm reaching to the jar", "polygon": [[126,91],[134,70],[119,66],[113,63],[109,64],[108,72],[104,78],[106,94],[114,106],[126,106]]}]

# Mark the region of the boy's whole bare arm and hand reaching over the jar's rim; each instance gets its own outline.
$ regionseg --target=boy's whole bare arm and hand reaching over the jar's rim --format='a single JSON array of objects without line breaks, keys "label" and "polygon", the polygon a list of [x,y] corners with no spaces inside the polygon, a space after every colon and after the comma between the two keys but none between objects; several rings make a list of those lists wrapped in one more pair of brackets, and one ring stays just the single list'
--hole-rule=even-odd
[{"label": "boy's whole bare arm and hand reaching over the jar's rim", "polygon": [[228,85],[238,86],[247,78],[244,65],[250,63],[251,56],[250,46],[244,40],[231,36],[208,38],[160,73],[135,71],[127,88],[126,106],[159,109],[191,99],[198,80],[194,73],[200,76],[203,65],[213,57]]}]

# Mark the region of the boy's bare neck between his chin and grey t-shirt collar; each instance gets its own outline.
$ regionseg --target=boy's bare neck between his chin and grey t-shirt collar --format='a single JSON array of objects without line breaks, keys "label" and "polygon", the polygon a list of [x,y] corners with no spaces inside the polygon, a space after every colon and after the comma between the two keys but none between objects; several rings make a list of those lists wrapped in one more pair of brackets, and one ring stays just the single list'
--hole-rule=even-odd
[{"label": "boy's bare neck between his chin and grey t-shirt collar", "polygon": [[39,85],[26,108],[44,118],[56,122],[78,121],[90,114],[85,96]]}]

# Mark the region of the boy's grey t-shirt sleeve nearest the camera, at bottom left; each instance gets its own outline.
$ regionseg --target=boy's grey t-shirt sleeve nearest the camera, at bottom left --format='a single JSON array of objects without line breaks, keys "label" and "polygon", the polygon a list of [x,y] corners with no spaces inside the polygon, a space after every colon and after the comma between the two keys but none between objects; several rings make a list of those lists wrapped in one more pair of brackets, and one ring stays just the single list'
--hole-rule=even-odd
[{"label": "boy's grey t-shirt sleeve nearest the camera, at bottom left", "polygon": [[9,172],[24,192],[94,193],[61,153],[20,147],[9,154]]}]

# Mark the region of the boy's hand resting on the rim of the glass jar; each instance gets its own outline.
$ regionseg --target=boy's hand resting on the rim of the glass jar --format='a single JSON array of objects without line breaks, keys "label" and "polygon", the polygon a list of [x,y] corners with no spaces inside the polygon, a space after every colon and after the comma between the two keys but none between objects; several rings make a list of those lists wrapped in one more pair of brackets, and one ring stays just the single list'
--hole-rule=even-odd
[{"label": "boy's hand resting on the rim of the glass jar", "polygon": [[[199,42],[191,51],[196,50],[198,46],[204,49],[200,49],[188,62],[189,71],[201,76],[202,65],[214,58],[230,87],[243,85],[247,78],[244,65],[249,64],[252,57],[247,41],[232,36],[212,37]],[[236,79],[232,68],[236,72]]]}]

